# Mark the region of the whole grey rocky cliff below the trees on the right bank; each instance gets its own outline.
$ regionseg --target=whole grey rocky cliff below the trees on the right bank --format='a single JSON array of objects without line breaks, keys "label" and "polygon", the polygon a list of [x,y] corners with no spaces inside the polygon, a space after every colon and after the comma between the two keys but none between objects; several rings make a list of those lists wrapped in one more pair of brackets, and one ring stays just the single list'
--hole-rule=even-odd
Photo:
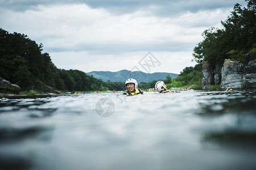
[{"label": "whole grey rocky cliff below the trees on the right bank", "polygon": [[225,59],[223,65],[203,62],[201,86],[220,84],[222,88],[256,88],[256,53],[248,53],[243,62]]}]

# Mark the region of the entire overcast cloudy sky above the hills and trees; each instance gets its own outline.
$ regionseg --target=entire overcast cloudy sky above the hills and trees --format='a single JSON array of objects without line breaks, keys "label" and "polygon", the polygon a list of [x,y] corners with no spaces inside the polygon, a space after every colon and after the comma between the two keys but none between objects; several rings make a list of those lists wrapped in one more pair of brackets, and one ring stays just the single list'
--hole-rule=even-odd
[{"label": "entire overcast cloudy sky above the hills and trees", "polygon": [[151,52],[158,63],[151,62],[150,73],[179,74],[195,66],[201,33],[222,28],[236,3],[246,6],[244,0],[0,0],[0,27],[42,43],[60,69],[148,72],[139,63]]}]

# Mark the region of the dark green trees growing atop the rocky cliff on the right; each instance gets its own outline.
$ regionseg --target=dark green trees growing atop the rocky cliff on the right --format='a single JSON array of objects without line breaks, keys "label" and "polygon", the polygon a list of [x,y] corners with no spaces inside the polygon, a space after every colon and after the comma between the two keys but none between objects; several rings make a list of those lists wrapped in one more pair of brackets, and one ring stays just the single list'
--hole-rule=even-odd
[{"label": "dark green trees growing atop the rocky cliff on the right", "polygon": [[203,32],[204,40],[193,49],[194,61],[223,63],[227,58],[242,61],[243,54],[255,48],[256,1],[245,1],[247,8],[237,3],[228,19],[221,21],[224,29],[211,27]]}]

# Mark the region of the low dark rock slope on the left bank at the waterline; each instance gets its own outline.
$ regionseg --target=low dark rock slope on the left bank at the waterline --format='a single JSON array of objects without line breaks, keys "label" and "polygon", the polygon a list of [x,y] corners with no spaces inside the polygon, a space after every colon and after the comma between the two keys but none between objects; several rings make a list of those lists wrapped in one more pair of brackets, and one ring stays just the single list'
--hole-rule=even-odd
[{"label": "low dark rock slope on the left bank at the waterline", "polygon": [[19,94],[20,87],[0,77],[0,92]]}]

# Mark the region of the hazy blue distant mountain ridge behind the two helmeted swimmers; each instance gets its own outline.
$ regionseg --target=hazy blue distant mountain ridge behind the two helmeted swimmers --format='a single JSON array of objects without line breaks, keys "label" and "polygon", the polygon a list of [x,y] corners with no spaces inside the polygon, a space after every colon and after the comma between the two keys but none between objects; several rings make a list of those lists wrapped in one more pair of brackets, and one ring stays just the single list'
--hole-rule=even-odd
[{"label": "hazy blue distant mountain ridge behind the two helmeted swimmers", "polygon": [[92,71],[86,73],[88,75],[93,75],[94,78],[101,79],[104,82],[110,80],[110,82],[125,82],[126,79],[134,78],[138,83],[141,82],[151,82],[152,80],[163,80],[167,76],[171,78],[177,76],[174,73],[144,73],[142,71],[129,71],[121,70],[117,72],[111,71]]}]

